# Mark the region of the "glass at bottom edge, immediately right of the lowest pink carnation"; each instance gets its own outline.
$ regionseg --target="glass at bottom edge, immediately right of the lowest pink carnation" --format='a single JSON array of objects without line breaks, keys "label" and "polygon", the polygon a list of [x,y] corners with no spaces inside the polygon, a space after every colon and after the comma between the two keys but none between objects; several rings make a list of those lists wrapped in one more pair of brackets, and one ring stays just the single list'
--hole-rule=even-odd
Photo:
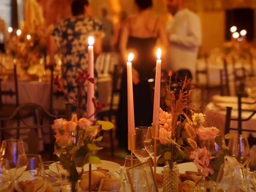
[{"label": "glass at bottom edge, immediately right of the lowest pink carnation", "polygon": [[216,191],[230,192],[233,190],[233,169],[228,162],[220,166],[216,179]]}]

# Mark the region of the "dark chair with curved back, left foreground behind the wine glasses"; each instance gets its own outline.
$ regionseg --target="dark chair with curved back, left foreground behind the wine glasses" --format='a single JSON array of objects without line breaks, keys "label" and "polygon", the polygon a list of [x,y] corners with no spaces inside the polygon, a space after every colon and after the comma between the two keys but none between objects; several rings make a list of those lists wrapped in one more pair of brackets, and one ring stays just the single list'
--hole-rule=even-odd
[{"label": "dark chair with curved back, left foreground behind the wine glasses", "polygon": [[[36,121],[33,124],[31,124],[31,122],[28,122],[26,120],[26,111],[28,109],[29,111],[33,111],[34,115],[36,116]],[[23,123],[22,126],[20,126],[20,124],[17,124],[17,126],[12,126],[12,127],[1,127],[0,128],[1,134],[4,134],[4,131],[10,131],[10,130],[29,130],[27,134],[27,138],[24,139],[24,142],[26,142],[28,145],[28,153],[37,154],[39,152],[38,144],[39,144],[39,141],[42,139],[38,137],[38,134],[37,134],[38,129],[48,128],[50,146],[52,146],[50,150],[51,152],[53,152],[54,137],[53,137],[51,126],[53,124],[53,120],[55,120],[56,118],[65,118],[67,120],[70,120],[71,104],[66,104],[66,114],[64,116],[50,114],[47,110],[42,108],[42,106],[40,106],[39,104],[35,104],[35,103],[22,104],[18,106],[18,108],[16,108],[9,117],[0,118],[0,121],[11,121],[14,119],[19,119],[20,122]],[[47,120],[48,124],[42,124],[43,120]]]}]

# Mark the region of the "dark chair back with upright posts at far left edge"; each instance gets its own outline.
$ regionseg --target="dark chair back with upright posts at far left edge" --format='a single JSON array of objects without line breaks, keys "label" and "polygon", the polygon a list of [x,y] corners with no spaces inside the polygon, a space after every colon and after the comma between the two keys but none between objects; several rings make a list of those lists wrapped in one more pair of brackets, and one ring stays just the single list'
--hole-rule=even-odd
[{"label": "dark chair back with upright posts at far left edge", "polygon": [[2,96],[12,97],[15,96],[15,105],[18,107],[19,103],[19,92],[18,92],[18,78],[17,78],[17,67],[14,65],[13,68],[13,75],[14,75],[14,90],[2,90],[2,79],[0,79],[0,108],[3,105]]}]

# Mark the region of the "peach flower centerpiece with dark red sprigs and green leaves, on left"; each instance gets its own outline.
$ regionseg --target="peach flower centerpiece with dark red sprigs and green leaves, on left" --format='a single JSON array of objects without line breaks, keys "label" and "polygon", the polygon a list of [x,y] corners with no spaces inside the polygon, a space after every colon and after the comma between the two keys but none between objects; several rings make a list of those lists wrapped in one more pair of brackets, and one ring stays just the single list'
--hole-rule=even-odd
[{"label": "peach flower centerpiece with dark red sprigs and green leaves, on left", "polygon": [[[78,104],[81,98],[82,88],[86,81],[94,83],[94,79],[90,78],[87,72],[79,71],[76,78],[76,83],[79,86],[78,94],[76,98],[73,98],[62,88],[58,76],[54,80],[58,88],[64,94],[71,97],[77,105],[77,114],[74,114],[71,120],[68,121],[63,118],[56,119],[52,125],[56,138],[54,153],[59,157],[63,168],[69,173],[72,192],[77,190],[77,183],[84,172],[84,165],[86,163],[100,164],[100,159],[92,156],[93,151],[102,149],[102,147],[96,146],[96,143],[102,140],[102,136],[98,136],[98,134],[102,130],[110,130],[114,127],[110,122],[92,121],[90,117],[79,118],[80,111]],[[104,107],[103,104],[96,102],[94,99],[92,102],[96,109],[94,114]]]}]

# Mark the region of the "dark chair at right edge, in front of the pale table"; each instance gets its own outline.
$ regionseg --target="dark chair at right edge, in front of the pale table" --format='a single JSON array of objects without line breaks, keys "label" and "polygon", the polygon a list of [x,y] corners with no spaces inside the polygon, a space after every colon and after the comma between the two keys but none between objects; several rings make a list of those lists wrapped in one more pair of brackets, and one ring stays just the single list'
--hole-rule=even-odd
[{"label": "dark chair at right edge, in front of the pale table", "polygon": [[[256,144],[256,138],[252,136],[252,133],[256,133],[256,129],[254,130],[249,130],[249,129],[244,129],[242,128],[242,122],[246,122],[250,120],[255,114],[256,110],[250,111],[252,112],[248,118],[242,118],[242,111],[245,111],[242,109],[242,104],[256,104],[256,102],[253,103],[248,103],[248,102],[242,102],[242,94],[238,94],[238,118],[232,118],[231,112],[232,112],[232,107],[227,107],[226,110],[226,122],[225,122],[225,130],[224,134],[228,134],[230,130],[236,130],[238,131],[238,134],[242,134],[242,132],[249,132],[250,135],[248,137],[248,141],[250,146],[253,144]],[[248,110],[246,110],[248,112]],[[231,121],[236,121],[237,122],[237,128],[231,128],[230,127],[230,122]]]}]

